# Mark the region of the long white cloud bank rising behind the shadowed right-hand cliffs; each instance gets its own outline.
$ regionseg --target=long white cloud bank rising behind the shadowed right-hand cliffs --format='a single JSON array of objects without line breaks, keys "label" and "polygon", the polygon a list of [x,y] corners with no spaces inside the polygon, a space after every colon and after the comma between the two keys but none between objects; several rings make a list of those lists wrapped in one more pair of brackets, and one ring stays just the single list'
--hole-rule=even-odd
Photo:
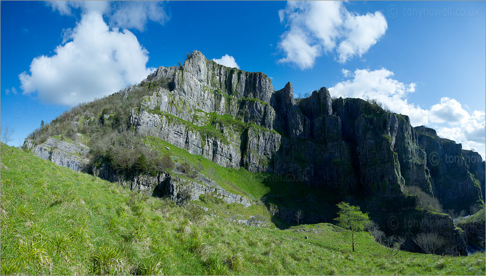
[{"label": "long white cloud bank rising behind the shadowed right-hand cliffs", "polygon": [[431,125],[437,134],[457,143],[463,149],[473,149],[485,157],[485,117],[484,111],[474,110],[469,114],[455,99],[442,97],[440,102],[424,109],[409,103],[407,95],[415,92],[415,83],[402,83],[393,79],[393,72],[384,68],[379,70],[360,70],[353,73],[343,69],[342,73],[350,79],[329,88],[331,95],[376,99],[391,111],[406,114],[413,126]]}]

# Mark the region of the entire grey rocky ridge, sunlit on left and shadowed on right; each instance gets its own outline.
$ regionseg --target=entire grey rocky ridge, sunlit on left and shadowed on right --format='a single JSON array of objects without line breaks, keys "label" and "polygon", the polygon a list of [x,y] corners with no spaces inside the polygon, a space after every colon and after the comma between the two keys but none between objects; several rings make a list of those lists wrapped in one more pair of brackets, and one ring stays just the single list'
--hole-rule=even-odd
[{"label": "entire grey rocky ridge, sunlit on left and shadowed on right", "polygon": [[[415,250],[413,234],[433,230],[424,222],[434,221],[436,225],[447,225],[436,230],[453,244],[451,252],[467,253],[465,234],[449,225],[450,217],[417,211],[415,197],[404,194],[404,187],[420,187],[447,209],[468,209],[483,200],[484,162],[471,162],[472,157],[477,158],[476,153],[440,139],[433,129],[412,127],[408,116],[386,112],[362,99],[333,100],[325,87],[297,102],[291,83],[274,91],[263,73],[219,65],[198,51],[183,66],[159,67],[142,83],[120,93],[127,97],[141,87],[152,93],[130,110],[129,121],[136,135],[158,137],[223,167],[292,176],[337,195],[378,199],[378,203],[362,203],[364,209],[388,234],[400,230],[407,236],[408,249]],[[41,158],[75,170],[86,164],[75,154],[52,159],[46,151],[53,141],[48,141],[41,145],[26,141],[26,148],[34,148]],[[80,148],[81,152],[85,150]],[[449,156],[465,162],[449,164]],[[435,157],[441,162],[435,164]],[[174,181],[165,174],[156,180],[140,176],[122,180],[103,164],[94,171],[130,189],[162,191],[174,200],[187,196],[184,187],[189,185],[194,191],[189,197],[194,200],[209,192],[227,202],[249,204],[221,189]],[[160,189],[161,185],[171,188]],[[385,202],[404,204],[390,211],[383,207],[389,206]],[[285,208],[281,210],[280,215],[287,216]],[[318,214],[308,217],[315,217],[315,222],[322,219]],[[393,217],[402,226],[404,219],[415,220],[419,226],[390,227],[389,219]]]}]

